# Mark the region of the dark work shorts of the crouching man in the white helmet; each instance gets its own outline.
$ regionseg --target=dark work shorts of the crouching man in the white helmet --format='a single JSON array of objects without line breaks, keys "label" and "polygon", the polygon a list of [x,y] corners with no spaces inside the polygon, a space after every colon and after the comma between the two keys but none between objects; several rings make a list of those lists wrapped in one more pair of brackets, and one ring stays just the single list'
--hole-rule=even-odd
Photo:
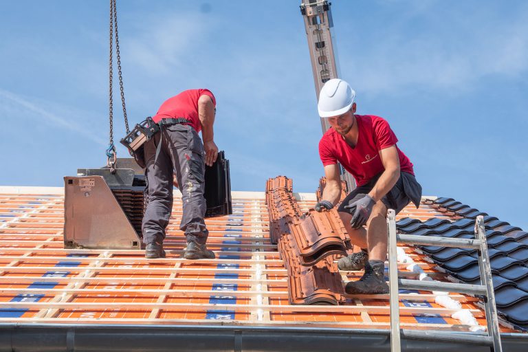
[{"label": "dark work shorts of the crouching man in the white helmet", "polygon": [[[380,178],[382,174],[376,175],[369,181],[368,184],[364,184],[358,188],[355,188],[352,192],[345,197],[338,208],[338,212],[349,212],[345,209],[345,206],[358,201],[365,197],[372,188],[374,188],[377,179]],[[405,206],[412,201],[418,208],[421,199],[421,186],[416,180],[416,178],[410,173],[400,173],[399,179],[394,185],[394,187],[382,198],[382,202],[385,204],[387,209],[395,210],[396,214],[401,212]]]}]

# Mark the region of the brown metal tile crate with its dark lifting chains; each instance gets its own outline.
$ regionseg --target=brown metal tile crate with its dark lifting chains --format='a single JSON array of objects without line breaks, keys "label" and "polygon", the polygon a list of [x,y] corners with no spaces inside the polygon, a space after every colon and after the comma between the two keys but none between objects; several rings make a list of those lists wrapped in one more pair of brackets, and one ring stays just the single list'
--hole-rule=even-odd
[{"label": "brown metal tile crate with its dark lifting chains", "polygon": [[[115,32],[114,32],[115,27]],[[131,158],[118,159],[113,144],[113,39],[126,134],[130,133],[124,102],[119,51],[118,14],[115,0],[110,0],[109,52],[109,146],[107,166],[80,168],[77,177],[64,177],[65,248],[140,249],[144,212],[142,168]],[[114,35],[115,34],[115,35]],[[124,168],[118,168],[118,162]]]}]

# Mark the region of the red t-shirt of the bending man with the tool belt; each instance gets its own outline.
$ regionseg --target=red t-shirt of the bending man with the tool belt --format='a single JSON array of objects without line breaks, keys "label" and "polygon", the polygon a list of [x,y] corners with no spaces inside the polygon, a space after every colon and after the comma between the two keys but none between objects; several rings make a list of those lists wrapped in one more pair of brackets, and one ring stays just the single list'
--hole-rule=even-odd
[{"label": "red t-shirt of the bending man with the tool belt", "polygon": [[217,100],[214,99],[209,89],[188,89],[165,100],[152,120],[157,123],[162,118],[186,118],[191,126],[199,132],[201,124],[198,118],[198,99],[203,95],[210,96],[214,106],[217,106]]}]

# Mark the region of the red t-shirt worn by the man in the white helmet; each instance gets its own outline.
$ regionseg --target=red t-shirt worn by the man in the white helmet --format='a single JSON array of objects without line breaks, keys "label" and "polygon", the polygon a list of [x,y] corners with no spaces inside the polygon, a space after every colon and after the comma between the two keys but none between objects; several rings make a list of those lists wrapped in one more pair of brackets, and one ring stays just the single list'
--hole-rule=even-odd
[{"label": "red t-shirt worn by the man in the white helmet", "polygon": [[[358,121],[358,143],[351,148],[343,137],[330,128],[319,142],[319,156],[324,166],[340,164],[353,175],[358,186],[369,183],[385,170],[380,151],[398,142],[388,122],[379,116],[355,115]],[[409,158],[399,150],[399,169],[415,175]]]}]

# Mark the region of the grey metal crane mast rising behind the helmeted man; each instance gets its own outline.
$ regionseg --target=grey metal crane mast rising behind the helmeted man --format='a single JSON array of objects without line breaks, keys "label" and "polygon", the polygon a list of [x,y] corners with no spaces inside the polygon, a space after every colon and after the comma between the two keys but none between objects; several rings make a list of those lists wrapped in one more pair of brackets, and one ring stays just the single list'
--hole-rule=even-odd
[{"label": "grey metal crane mast rising behind the helmeted man", "polygon": [[[335,50],[333,48],[333,21],[330,10],[331,3],[327,0],[302,0],[300,13],[305,20],[305,30],[310,50],[311,68],[316,84],[316,95],[319,100],[319,93],[322,86],[332,78],[339,78],[340,72]],[[330,125],[326,118],[321,118],[322,133],[325,133]],[[355,188],[355,181],[340,165],[341,179],[347,183],[348,191]]]}]

